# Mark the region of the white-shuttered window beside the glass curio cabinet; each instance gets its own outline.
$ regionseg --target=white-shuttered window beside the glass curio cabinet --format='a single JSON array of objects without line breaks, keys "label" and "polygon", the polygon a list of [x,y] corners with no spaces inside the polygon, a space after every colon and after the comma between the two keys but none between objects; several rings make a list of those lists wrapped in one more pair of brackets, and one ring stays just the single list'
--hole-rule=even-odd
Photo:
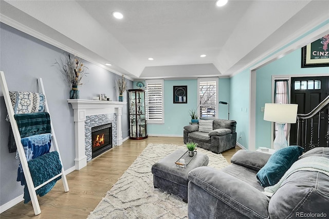
[{"label": "white-shuttered window beside the glass curio cabinet", "polygon": [[163,123],[163,80],[146,80],[148,123]]}]

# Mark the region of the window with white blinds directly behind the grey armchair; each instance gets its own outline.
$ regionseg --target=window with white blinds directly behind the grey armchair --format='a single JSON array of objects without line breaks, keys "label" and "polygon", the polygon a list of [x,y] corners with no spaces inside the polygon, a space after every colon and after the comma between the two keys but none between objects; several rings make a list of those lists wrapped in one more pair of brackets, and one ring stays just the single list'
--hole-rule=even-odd
[{"label": "window with white blinds directly behind the grey armchair", "polygon": [[217,118],[218,78],[199,78],[197,80],[199,88],[199,111],[198,116]]}]

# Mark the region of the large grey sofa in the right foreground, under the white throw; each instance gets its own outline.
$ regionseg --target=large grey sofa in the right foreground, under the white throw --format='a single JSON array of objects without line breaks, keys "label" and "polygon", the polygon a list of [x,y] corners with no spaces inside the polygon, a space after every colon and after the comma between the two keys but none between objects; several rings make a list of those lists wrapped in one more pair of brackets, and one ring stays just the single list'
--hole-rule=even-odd
[{"label": "large grey sofa in the right foreground, under the white throw", "polygon": [[[269,198],[256,177],[269,157],[262,152],[239,150],[233,155],[232,164],[222,170],[198,167],[190,171],[189,218],[329,217],[327,172],[294,172],[283,177],[281,187]],[[319,157],[329,158],[329,148],[315,148],[296,159],[301,163],[305,158]],[[324,160],[324,169],[328,169],[329,162]]]}]

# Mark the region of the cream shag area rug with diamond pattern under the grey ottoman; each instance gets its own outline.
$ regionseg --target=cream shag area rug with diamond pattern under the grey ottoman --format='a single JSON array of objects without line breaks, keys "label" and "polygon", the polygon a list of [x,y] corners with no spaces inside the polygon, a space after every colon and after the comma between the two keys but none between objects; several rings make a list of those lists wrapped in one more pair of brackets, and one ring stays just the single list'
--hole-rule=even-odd
[{"label": "cream shag area rug with diamond pattern under the grey ottoman", "polygon": [[[87,218],[188,218],[187,204],[180,197],[153,187],[152,165],[178,149],[185,146],[150,143]],[[209,167],[229,165],[222,154],[202,148],[197,152],[209,157]]]}]

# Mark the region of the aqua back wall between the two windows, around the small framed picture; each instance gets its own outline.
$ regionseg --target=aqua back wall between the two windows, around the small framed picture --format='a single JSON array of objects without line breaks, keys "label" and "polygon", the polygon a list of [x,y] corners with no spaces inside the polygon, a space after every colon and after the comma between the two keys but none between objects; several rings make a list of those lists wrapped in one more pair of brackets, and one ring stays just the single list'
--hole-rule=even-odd
[{"label": "aqua back wall between the two windows, around the small framed picture", "polygon": [[[187,85],[187,103],[173,103],[173,86]],[[149,124],[150,135],[182,136],[191,121],[189,109],[197,107],[197,80],[165,80],[165,123]]]}]

